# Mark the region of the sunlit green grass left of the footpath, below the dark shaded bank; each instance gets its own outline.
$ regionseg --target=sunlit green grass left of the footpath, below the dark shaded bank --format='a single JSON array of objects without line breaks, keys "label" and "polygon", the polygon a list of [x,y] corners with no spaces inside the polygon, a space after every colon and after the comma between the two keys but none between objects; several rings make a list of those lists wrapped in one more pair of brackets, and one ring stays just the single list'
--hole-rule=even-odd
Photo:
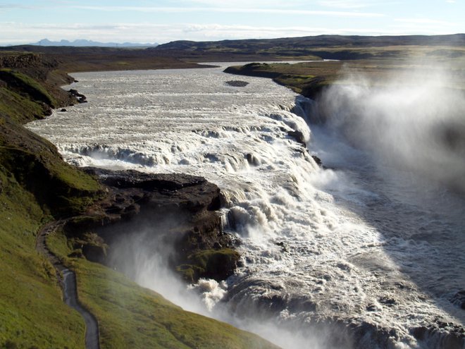
[{"label": "sunlit green grass left of the footpath, below the dark shaded bank", "polygon": [[63,303],[53,267],[35,251],[42,209],[3,166],[0,180],[0,348],[82,348],[84,322]]}]

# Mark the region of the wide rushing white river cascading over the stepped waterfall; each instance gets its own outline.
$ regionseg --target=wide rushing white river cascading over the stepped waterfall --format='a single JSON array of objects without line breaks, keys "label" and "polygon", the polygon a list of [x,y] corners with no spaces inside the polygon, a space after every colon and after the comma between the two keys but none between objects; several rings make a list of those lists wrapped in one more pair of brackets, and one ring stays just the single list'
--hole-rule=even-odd
[{"label": "wide rushing white river cascading over the stepped waterfall", "polygon": [[[347,135],[347,118],[313,125],[308,99],[222,69],[73,74],[89,103],[28,127],[78,166],[190,173],[221,188],[242,266],[193,287],[212,316],[285,348],[465,348],[463,195],[373,150],[402,158],[385,146],[397,136],[360,120]],[[135,278],[151,286],[147,272]]]}]

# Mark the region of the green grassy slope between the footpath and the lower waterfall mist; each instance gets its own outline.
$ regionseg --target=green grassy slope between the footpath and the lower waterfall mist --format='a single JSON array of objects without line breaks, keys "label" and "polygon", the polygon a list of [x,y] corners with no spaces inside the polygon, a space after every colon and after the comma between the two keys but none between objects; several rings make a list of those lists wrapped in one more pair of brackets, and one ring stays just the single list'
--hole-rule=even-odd
[{"label": "green grassy slope between the footpath and the lower waterfall mist", "polygon": [[82,258],[61,232],[49,246],[77,274],[79,297],[99,320],[101,348],[277,348],[252,333],[185,312],[122,274]]}]

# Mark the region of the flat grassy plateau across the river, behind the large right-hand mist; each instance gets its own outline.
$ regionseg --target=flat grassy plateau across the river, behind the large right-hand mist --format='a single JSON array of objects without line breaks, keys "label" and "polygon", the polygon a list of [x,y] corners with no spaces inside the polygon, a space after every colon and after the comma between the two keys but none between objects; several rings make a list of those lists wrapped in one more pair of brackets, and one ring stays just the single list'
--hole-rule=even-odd
[{"label": "flat grassy plateau across the river, behind the large right-hand mist", "polygon": [[[376,52],[380,48],[376,48]],[[390,51],[391,47],[382,48]],[[367,50],[367,49],[364,49]],[[465,52],[465,49],[455,51]],[[373,52],[373,51],[372,51]],[[383,85],[392,77],[402,78],[404,73],[445,76],[438,79],[438,87],[465,90],[465,55],[442,56],[444,53],[430,47],[409,48],[395,58],[352,59],[347,61],[313,61],[306,63],[251,63],[227,68],[227,73],[272,78],[294,92],[315,97],[325,86],[340,83],[349,75],[363,75],[376,85]],[[450,51],[447,51],[450,52]]]}]

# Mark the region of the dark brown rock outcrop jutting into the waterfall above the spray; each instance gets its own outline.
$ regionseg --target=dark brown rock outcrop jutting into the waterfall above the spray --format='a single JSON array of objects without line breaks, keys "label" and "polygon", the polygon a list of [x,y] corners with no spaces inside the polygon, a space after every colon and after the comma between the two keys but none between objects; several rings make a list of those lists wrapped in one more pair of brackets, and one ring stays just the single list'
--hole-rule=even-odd
[{"label": "dark brown rock outcrop jutting into the waterfall above the spray", "polygon": [[97,176],[108,192],[87,215],[71,219],[66,227],[75,248],[87,259],[105,264],[113,244],[144,231],[146,245],[163,240],[172,251],[168,264],[186,281],[223,280],[233,274],[239,254],[223,232],[216,185],[181,173],[86,171]]}]

